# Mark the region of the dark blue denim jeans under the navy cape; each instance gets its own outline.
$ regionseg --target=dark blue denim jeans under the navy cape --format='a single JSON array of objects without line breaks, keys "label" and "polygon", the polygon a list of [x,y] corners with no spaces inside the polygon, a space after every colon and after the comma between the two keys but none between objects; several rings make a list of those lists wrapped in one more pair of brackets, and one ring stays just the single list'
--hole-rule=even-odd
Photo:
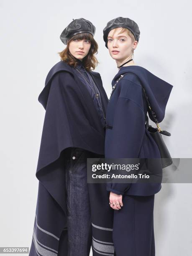
[{"label": "dark blue denim jeans under the navy cape", "polygon": [[72,148],[66,169],[68,256],[89,256],[92,243],[87,151]]}]

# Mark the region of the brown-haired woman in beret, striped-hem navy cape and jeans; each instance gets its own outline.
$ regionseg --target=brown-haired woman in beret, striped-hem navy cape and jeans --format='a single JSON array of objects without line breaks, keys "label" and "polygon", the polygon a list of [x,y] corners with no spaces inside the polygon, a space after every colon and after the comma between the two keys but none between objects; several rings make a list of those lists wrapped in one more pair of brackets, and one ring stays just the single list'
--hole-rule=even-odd
[{"label": "brown-haired woman in beret, striped-hem navy cape and jeans", "polygon": [[97,65],[95,26],[73,20],[61,33],[67,48],[38,97],[46,109],[29,256],[114,255],[113,210],[104,184],[87,184],[87,158],[104,155],[108,97]]}]

